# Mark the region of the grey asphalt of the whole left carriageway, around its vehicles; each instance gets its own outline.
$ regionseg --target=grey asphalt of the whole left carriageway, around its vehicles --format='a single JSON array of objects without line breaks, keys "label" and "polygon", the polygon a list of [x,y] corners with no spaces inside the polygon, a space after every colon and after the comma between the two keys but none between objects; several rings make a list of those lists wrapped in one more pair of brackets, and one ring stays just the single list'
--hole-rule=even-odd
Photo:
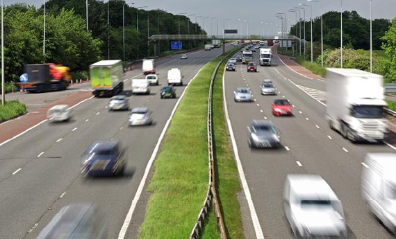
[{"label": "grey asphalt of the whole left carriageway, around its vehicles", "polygon": [[[123,94],[131,96],[130,108],[146,106],[154,112],[151,126],[128,127],[129,112],[108,112],[108,98],[90,98],[74,107],[71,122],[44,122],[1,145],[0,238],[35,238],[60,208],[76,202],[97,204],[106,215],[108,238],[117,238],[176,100],[197,71],[221,53],[222,48],[215,48],[189,53],[187,60],[179,59],[179,55],[157,60],[160,85],[151,86],[148,96],[131,96],[130,79],[142,77],[141,70],[126,73]],[[173,67],[181,69],[184,85],[176,87],[176,99],[160,99],[159,89],[161,85],[167,85],[167,70]],[[34,111],[58,98],[70,96],[74,91],[89,88],[89,84],[80,84],[67,91],[15,93],[8,94],[6,98],[31,103],[29,111]],[[81,177],[81,154],[97,139],[117,139],[128,148],[129,157],[123,177]],[[148,198],[149,194],[143,191],[126,238],[138,237],[138,227],[144,220]]]}]

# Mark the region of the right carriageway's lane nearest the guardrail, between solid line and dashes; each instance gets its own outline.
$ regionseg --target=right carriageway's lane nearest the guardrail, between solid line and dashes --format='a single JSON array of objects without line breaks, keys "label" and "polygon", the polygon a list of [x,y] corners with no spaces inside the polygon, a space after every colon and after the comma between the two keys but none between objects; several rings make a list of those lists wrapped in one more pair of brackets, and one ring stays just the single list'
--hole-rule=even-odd
[{"label": "right carriageway's lane nearest the guardrail, between solid line and dashes", "polygon": [[[243,67],[238,67],[239,71]],[[302,173],[302,170],[295,165],[292,154],[286,148],[253,150],[249,148],[247,126],[253,119],[265,119],[268,115],[260,111],[258,101],[233,102],[233,90],[236,87],[246,87],[240,72],[226,72],[224,81],[233,134],[263,233],[269,238],[293,238],[283,215],[283,184],[286,175]],[[255,93],[254,98],[260,96]],[[275,126],[278,127],[277,124]],[[281,140],[283,141],[283,135]]]}]

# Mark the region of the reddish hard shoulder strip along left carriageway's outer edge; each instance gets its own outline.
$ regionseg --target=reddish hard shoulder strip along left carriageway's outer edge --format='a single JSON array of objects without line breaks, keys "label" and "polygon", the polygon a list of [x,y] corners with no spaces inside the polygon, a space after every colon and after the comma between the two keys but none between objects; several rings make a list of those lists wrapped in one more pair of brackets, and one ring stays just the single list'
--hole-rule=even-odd
[{"label": "reddish hard shoulder strip along left carriageway's outer edge", "polygon": [[0,125],[0,145],[3,145],[4,142],[10,141],[18,134],[25,132],[26,130],[34,127],[45,121],[47,118],[47,110],[53,105],[69,105],[72,107],[80,103],[82,100],[88,99],[92,96],[91,91],[77,91],[75,94],[71,94],[65,98],[60,100],[56,100],[51,105],[47,105],[38,109],[36,112],[31,112],[25,114],[24,116],[19,116],[18,118],[14,118],[10,121],[6,121]]}]

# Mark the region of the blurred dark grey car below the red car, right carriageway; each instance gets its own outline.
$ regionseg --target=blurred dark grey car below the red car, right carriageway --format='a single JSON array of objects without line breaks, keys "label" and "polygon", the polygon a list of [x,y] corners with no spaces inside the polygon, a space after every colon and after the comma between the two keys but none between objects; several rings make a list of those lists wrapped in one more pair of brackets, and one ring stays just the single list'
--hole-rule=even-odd
[{"label": "blurred dark grey car below the red car, right carriageway", "polygon": [[247,127],[247,143],[250,148],[279,148],[280,136],[271,121],[254,120]]}]

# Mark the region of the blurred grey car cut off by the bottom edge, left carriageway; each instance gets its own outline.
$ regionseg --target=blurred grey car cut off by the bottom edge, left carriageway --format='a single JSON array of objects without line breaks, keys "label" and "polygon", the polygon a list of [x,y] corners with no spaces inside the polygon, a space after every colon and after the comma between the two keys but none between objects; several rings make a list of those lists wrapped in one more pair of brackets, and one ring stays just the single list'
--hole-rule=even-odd
[{"label": "blurred grey car cut off by the bottom edge, left carriageway", "polygon": [[106,221],[97,206],[70,204],[53,216],[36,239],[105,239],[106,234]]}]

